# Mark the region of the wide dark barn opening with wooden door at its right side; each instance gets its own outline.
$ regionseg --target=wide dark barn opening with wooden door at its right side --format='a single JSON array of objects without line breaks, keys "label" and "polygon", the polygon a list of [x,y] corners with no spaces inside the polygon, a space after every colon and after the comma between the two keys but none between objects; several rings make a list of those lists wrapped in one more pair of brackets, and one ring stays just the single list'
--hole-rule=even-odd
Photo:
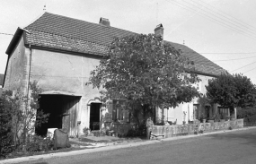
[{"label": "wide dark barn opening with wooden door at its right side", "polygon": [[40,95],[40,108],[49,113],[48,122],[36,127],[35,133],[45,136],[49,128],[65,130],[69,136],[77,135],[77,115],[81,96]]}]

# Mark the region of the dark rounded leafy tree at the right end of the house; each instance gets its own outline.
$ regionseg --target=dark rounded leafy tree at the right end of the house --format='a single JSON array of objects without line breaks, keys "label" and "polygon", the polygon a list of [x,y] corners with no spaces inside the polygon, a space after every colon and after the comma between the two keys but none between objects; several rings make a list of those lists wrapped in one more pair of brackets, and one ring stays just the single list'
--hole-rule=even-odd
[{"label": "dark rounded leafy tree at the right end of the house", "polygon": [[241,73],[223,73],[206,86],[207,98],[225,108],[249,108],[255,105],[256,88]]}]

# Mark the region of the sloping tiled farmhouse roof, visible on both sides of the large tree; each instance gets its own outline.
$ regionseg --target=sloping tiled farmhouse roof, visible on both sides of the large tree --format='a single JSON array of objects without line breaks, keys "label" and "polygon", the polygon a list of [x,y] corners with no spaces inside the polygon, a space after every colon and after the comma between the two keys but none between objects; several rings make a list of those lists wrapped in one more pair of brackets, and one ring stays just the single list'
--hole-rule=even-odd
[{"label": "sloping tiled farmhouse roof, visible on both sides of the large tree", "polygon": [[[84,22],[53,13],[44,13],[24,29],[30,31],[30,33],[26,33],[26,44],[99,56],[107,53],[108,46],[115,37],[137,34],[128,30],[99,23]],[[170,43],[176,49],[181,49],[181,54],[194,61],[196,70],[201,73],[217,75],[225,72],[223,68],[190,47],[169,41],[165,42]]]}]

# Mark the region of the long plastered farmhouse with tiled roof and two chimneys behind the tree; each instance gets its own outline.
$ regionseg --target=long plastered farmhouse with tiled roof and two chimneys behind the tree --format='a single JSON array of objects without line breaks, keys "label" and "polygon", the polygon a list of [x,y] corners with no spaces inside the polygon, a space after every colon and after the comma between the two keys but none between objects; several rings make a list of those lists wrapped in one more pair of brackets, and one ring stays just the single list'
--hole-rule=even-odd
[{"label": "long plastered farmhouse with tiled roof and two chimneys behind the tree", "polygon": [[[156,33],[163,35],[163,26],[157,26]],[[110,26],[110,21],[101,18],[99,23],[85,22],[53,13],[43,13],[25,28],[18,28],[6,50],[8,56],[4,73],[4,90],[28,92],[29,82],[37,81],[43,90],[40,108],[50,113],[49,123],[38,129],[46,134],[48,128],[66,128],[70,136],[83,134],[84,127],[100,129],[105,122],[117,118],[129,122],[128,114],[113,107],[114,99],[107,108],[102,108],[100,92],[88,82],[90,72],[99,65],[102,55],[114,37],[135,35],[135,32]],[[163,36],[164,38],[164,36]],[[181,44],[170,43],[181,49],[182,56],[194,61],[201,82],[197,84],[201,93],[206,93],[209,79],[225,70]],[[217,105],[207,108],[198,99],[183,103],[178,108],[155,109],[156,119],[182,124],[199,118],[203,112],[211,117],[219,112]],[[222,112],[228,110],[223,109]],[[102,119],[106,116],[106,119]],[[37,129],[36,129],[37,131]]]}]

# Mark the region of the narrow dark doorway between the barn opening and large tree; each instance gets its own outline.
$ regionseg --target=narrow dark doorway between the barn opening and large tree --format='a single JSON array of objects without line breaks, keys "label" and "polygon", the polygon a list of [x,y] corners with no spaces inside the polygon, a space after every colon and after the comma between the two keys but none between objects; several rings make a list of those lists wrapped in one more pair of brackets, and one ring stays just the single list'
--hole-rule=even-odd
[{"label": "narrow dark doorway between the barn opening and large tree", "polygon": [[90,108],[90,129],[100,130],[102,103],[91,103]]}]

